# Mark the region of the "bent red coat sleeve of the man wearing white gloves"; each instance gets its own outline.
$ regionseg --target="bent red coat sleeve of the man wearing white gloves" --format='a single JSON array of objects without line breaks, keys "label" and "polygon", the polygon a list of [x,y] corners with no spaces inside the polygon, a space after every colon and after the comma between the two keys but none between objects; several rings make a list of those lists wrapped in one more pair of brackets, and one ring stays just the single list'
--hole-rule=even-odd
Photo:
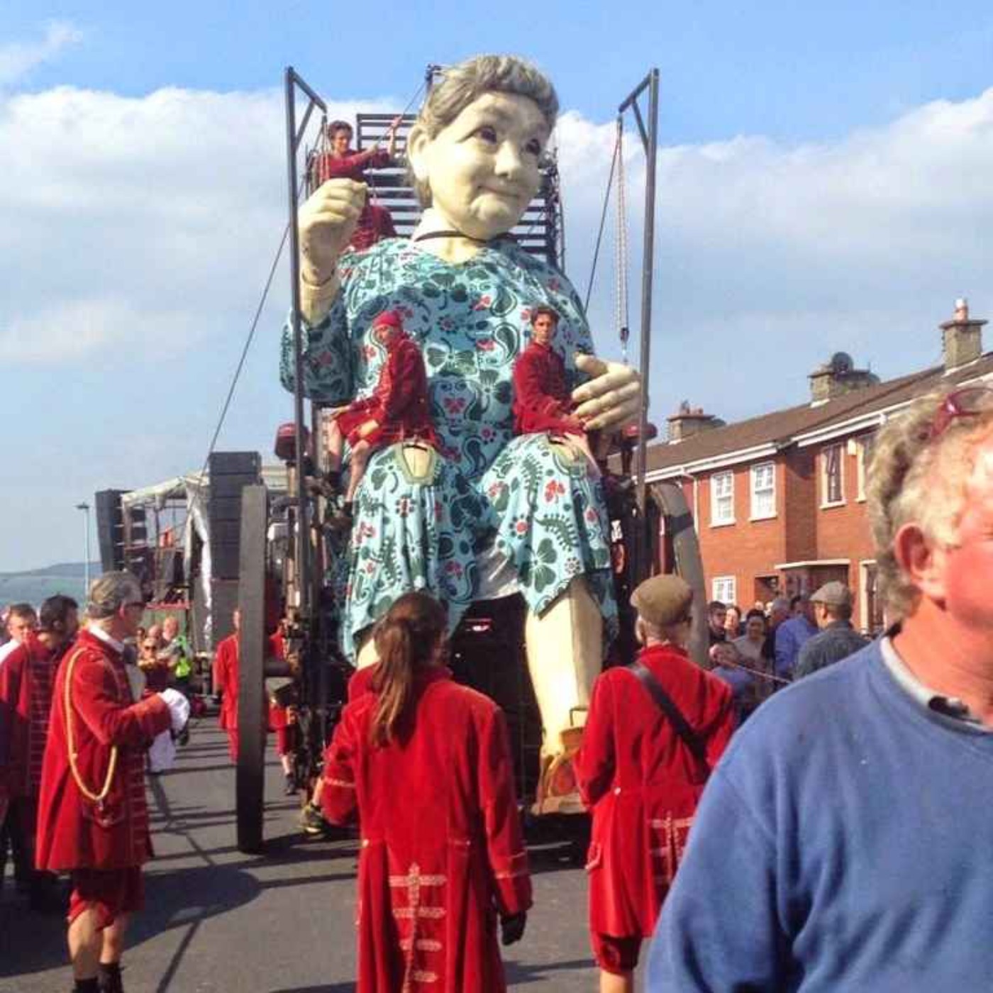
[{"label": "bent red coat sleeve of the man wearing white gloves", "polygon": [[[68,665],[69,659],[64,664]],[[106,662],[80,657],[71,676],[72,709],[101,745],[140,747],[169,730],[169,707],[158,693],[130,706],[121,704]]]}]

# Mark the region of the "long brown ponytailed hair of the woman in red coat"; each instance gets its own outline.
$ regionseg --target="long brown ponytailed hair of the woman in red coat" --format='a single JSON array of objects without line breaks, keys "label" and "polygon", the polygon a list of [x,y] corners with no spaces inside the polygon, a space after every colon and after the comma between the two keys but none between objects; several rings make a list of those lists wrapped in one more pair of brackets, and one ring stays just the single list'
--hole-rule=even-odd
[{"label": "long brown ponytailed hair of the woman in red coat", "polygon": [[414,676],[431,664],[445,634],[445,608],[426,593],[406,593],[389,609],[375,632],[379,663],[372,681],[378,693],[369,726],[373,747],[385,747],[406,729]]}]

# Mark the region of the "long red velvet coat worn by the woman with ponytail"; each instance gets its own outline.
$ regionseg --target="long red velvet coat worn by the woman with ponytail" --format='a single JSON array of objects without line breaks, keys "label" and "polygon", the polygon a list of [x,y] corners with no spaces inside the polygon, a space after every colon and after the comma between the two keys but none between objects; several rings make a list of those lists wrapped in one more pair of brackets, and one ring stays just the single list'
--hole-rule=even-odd
[{"label": "long red velvet coat worn by the woman with ponytail", "polygon": [[496,993],[497,914],[531,904],[506,725],[447,669],[415,699],[409,734],[373,748],[378,696],[355,697],[325,756],[326,816],[361,821],[358,993]]}]

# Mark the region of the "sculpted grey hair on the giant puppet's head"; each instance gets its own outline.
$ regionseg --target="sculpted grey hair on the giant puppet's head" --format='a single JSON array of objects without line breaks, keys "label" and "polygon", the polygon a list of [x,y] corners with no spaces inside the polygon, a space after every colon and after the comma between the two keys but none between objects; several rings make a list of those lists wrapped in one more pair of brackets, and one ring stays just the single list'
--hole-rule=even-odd
[{"label": "sculpted grey hair on the giant puppet's head", "polygon": [[[548,133],[555,128],[559,111],[555,87],[544,72],[517,56],[474,56],[443,71],[441,81],[431,87],[421,106],[414,127],[434,138],[484,93],[526,96],[537,104]],[[408,172],[421,207],[430,207],[430,186]]]}]

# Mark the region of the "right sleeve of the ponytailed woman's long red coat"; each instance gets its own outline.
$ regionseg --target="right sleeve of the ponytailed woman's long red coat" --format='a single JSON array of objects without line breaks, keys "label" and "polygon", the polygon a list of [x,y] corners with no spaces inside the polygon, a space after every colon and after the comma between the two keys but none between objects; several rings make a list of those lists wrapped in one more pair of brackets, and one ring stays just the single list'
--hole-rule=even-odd
[{"label": "right sleeve of the ponytailed woman's long red coat", "polygon": [[487,858],[497,911],[508,917],[531,906],[531,877],[513,791],[513,761],[502,711],[484,720],[480,741],[479,796],[483,805]]}]

